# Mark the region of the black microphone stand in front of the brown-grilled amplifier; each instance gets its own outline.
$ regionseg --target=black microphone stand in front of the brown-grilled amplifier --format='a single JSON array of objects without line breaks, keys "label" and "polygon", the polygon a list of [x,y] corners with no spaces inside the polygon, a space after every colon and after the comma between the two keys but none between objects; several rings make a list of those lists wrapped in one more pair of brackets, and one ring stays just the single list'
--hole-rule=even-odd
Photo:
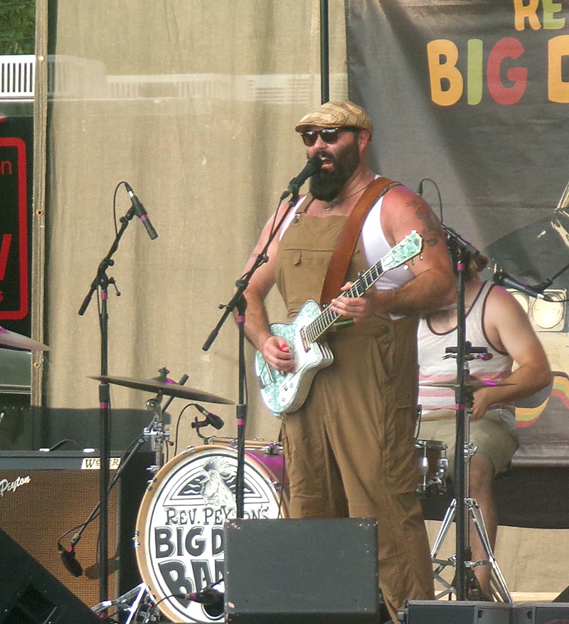
[{"label": "black microphone stand in front of the brown-grilled amplifier", "polygon": [[[109,253],[105,255],[97,268],[97,275],[91,282],[89,292],[83,304],[80,307],[79,314],[83,316],[89,306],[92,295],[100,289],[101,307],[99,312],[99,324],[101,334],[101,376],[108,375],[109,360],[109,314],[107,308],[108,288],[109,284],[115,285],[114,277],[107,276],[107,268],[115,264],[112,255],[119,248],[119,242],[127,229],[129,222],[134,217],[134,206],[129,208],[127,214],[120,218],[121,226],[115,236]],[[120,295],[117,290],[117,295]],[[99,417],[100,417],[100,481],[99,481],[99,557],[100,557],[100,575],[99,575],[99,593],[100,601],[106,601],[109,593],[109,570],[107,567],[107,559],[109,552],[109,477],[110,477],[110,430],[111,430],[111,408],[110,408],[110,387],[109,384],[101,382],[99,384]]]}]

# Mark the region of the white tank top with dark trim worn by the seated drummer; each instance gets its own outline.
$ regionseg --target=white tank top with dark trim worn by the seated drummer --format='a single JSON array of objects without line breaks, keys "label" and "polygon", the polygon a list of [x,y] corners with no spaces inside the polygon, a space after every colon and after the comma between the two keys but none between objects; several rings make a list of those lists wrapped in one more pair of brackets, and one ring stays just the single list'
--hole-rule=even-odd
[{"label": "white tank top with dark trim worn by the seated drummer", "polygon": [[[497,351],[484,332],[484,310],[491,282],[484,282],[466,317],[466,339],[472,347],[486,347],[492,355],[489,360],[469,361],[471,375],[489,381],[504,381],[511,374],[513,360],[502,351]],[[447,347],[457,346],[457,329],[437,334],[426,319],[420,319],[418,327],[419,381],[450,381],[457,377],[457,359],[443,359]],[[422,414],[429,411],[455,407],[454,388],[419,386],[419,404]],[[515,426],[514,406],[494,406],[502,411],[502,418]],[[511,416],[511,418],[510,418]]]}]

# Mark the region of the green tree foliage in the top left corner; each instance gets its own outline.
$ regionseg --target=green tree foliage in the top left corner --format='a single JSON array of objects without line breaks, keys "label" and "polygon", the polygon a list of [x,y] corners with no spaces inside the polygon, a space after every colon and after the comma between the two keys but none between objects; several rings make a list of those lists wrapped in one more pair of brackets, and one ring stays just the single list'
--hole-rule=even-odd
[{"label": "green tree foliage in the top left corner", "polygon": [[33,54],[35,0],[0,0],[0,54]]}]

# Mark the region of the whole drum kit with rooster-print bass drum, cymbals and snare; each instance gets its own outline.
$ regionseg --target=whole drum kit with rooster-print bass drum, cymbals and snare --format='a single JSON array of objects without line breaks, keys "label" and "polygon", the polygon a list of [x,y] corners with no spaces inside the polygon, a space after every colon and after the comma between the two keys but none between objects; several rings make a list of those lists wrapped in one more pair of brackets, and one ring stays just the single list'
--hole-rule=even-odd
[{"label": "whole drum kit with rooster-print bass drum, cymbals and snare", "polygon": [[[16,349],[49,349],[45,344],[2,327],[0,344]],[[154,474],[142,497],[134,535],[143,582],[123,596],[92,608],[101,614],[110,606],[116,606],[127,612],[125,624],[157,621],[161,615],[169,618],[166,621],[176,622],[218,622],[223,618],[223,524],[229,517],[235,517],[237,440],[204,437],[199,429],[211,423],[207,419],[198,423],[196,419],[193,426],[203,439],[203,445],[186,448],[165,461],[164,445],[169,442],[169,430],[162,421],[167,404],[163,407],[161,402],[164,396],[169,397],[169,401],[182,398],[226,405],[234,401],[185,386],[187,377],[177,384],[166,376],[168,372],[161,369],[159,376],[149,379],[92,377],[105,384],[156,395],[147,401],[154,418],[143,435],[156,453],[156,466],[150,467]],[[464,383],[472,391],[492,384],[474,377],[467,378]],[[453,379],[430,385],[454,388],[456,384],[457,380]],[[202,411],[207,413],[203,408]],[[454,412],[443,417],[451,416],[454,417]],[[446,491],[446,449],[447,445],[440,440],[415,441],[420,472],[417,492],[421,497]],[[244,517],[286,518],[288,497],[282,445],[246,440]],[[452,517],[445,518],[444,532],[442,530],[437,538],[436,550],[451,521]]]}]

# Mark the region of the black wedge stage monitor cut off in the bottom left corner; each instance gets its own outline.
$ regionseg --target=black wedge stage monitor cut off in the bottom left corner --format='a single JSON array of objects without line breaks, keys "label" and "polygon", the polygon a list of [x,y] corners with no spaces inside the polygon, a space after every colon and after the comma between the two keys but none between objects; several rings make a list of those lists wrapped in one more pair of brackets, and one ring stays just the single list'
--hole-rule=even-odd
[{"label": "black wedge stage monitor cut off in the bottom left corner", "polygon": [[0,529],[0,624],[101,624],[101,618]]}]

